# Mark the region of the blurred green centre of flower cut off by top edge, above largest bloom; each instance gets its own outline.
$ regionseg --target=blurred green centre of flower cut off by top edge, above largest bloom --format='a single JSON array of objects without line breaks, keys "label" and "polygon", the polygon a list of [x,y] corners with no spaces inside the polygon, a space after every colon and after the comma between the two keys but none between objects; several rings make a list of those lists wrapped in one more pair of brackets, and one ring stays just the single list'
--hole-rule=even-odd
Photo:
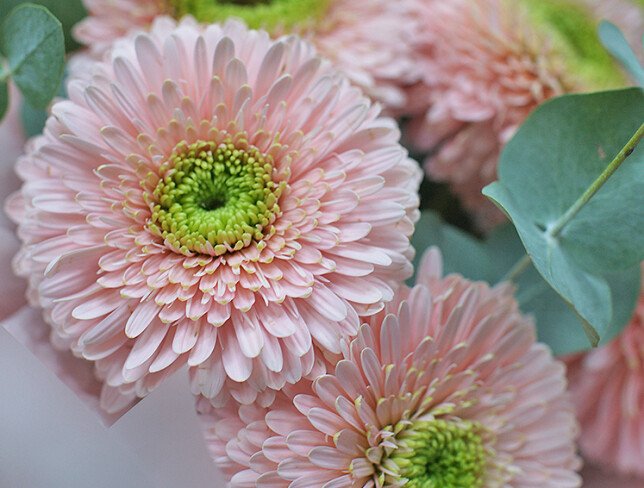
[{"label": "blurred green centre of flower cut off by top edge, above largest bloom", "polygon": [[242,19],[249,27],[269,31],[306,29],[324,18],[329,0],[169,0],[177,18],[190,14],[200,22]]}]

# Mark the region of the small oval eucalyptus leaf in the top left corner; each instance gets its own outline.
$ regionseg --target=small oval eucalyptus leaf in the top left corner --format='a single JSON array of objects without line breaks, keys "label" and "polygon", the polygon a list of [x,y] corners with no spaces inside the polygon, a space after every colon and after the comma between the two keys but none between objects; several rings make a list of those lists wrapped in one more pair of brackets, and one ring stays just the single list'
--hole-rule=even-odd
[{"label": "small oval eucalyptus leaf in the top left corner", "polygon": [[38,5],[20,5],[3,22],[0,50],[12,80],[34,107],[45,107],[60,86],[64,42],[61,23]]}]

